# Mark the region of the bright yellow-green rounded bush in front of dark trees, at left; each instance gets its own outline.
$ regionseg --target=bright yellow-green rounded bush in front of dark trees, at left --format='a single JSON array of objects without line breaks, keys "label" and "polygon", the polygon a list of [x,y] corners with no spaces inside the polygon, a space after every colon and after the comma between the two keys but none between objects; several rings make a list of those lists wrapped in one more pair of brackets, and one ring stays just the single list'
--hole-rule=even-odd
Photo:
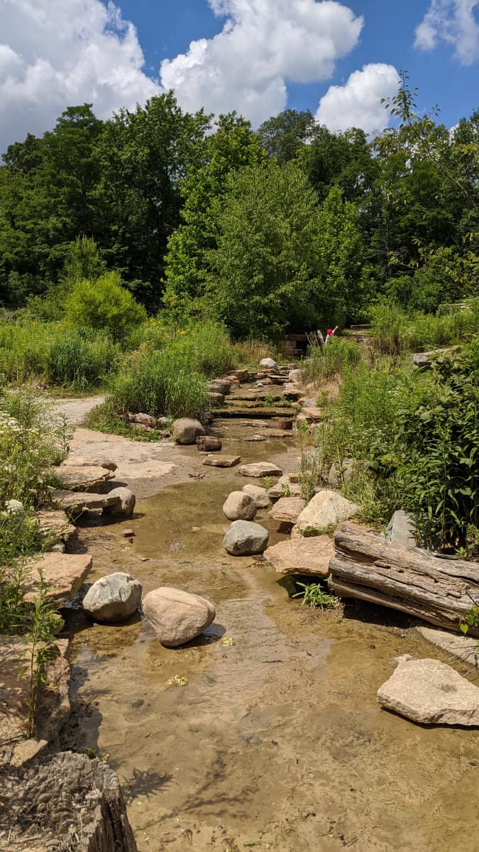
[{"label": "bright yellow-green rounded bush in front of dark trees, at left", "polygon": [[146,318],[145,308],[122,287],[117,272],[78,281],[66,297],[65,320],[68,325],[106,331],[114,341],[124,340],[131,328]]}]

